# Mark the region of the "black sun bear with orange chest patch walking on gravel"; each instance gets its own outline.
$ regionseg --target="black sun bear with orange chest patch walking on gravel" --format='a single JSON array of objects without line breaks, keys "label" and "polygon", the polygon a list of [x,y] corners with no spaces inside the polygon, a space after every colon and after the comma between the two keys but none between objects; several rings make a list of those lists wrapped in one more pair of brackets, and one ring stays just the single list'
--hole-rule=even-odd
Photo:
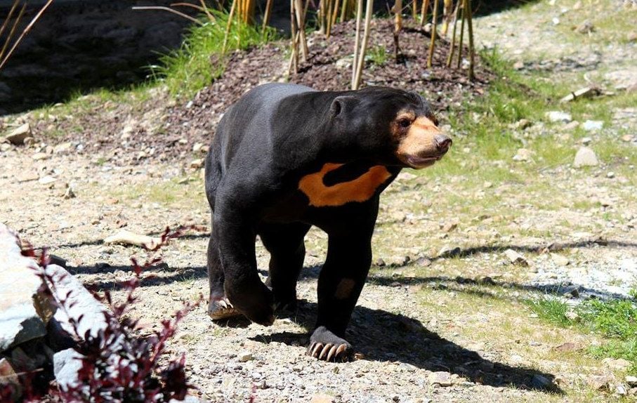
[{"label": "black sun bear with orange chest patch walking on gravel", "polygon": [[[327,233],[328,249],[308,354],[346,359],[379,195],[402,169],[431,166],[451,145],[414,92],[272,83],[242,95],[219,122],[205,162],[209,316],[269,326],[276,308],[294,309],[303,238],[314,225]],[[258,277],[257,236],[270,253],[267,284]]]}]

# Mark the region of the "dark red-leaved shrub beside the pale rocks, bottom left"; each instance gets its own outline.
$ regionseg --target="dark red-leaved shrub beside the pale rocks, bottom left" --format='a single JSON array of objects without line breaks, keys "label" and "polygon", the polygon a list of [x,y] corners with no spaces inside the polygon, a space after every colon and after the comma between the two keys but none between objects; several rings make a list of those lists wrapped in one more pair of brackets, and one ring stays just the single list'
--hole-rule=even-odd
[{"label": "dark red-leaved shrub beside the pale rocks, bottom left", "polygon": [[[96,299],[105,303],[106,326],[96,334],[86,331],[79,334],[79,323],[84,315],[69,317],[72,328],[71,336],[79,343],[74,350],[83,357],[79,370],[78,383],[69,385],[61,390],[49,390],[48,397],[52,400],[63,402],[169,402],[171,399],[183,400],[188,389],[193,388],[188,383],[185,374],[185,356],[174,359],[168,364],[162,364],[160,359],[166,353],[166,341],[171,338],[177,329],[177,325],[190,310],[199,305],[202,298],[195,303],[185,303],[184,307],[176,312],[174,318],[162,320],[162,329],[151,333],[150,336],[140,338],[135,336],[138,319],[129,319],[124,315],[137,297],[133,294],[140,284],[140,275],[143,270],[161,263],[162,258],[155,256],[162,246],[171,239],[180,237],[185,230],[199,227],[180,227],[171,231],[169,227],[162,233],[161,242],[152,249],[149,257],[143,264],[139,264],[135,258],[133,263],[133,278],[122,285],[126,290],[126,298],[123,302],[113,300],[109,291],[103,295],[93,293]],[[70,312],[73,304],[70,302],[70,292],[64,296],[55,293],[55,278],[46,270],[50,259],[46,250],[36,253],[32,246],[22,249],[22,254],[37,259],[38,266],[34,267],[37,276],[41,278],[40,292],[48,296],[57,308],[63,312]],[[95,333],[95,332],[94,332]],[[25,388],[26,389],[26,388]],[[31,389],[25,390],[25,398],[33,399]],[[9,390],[0,390],[4,396]],[[2,400],[4,401],[4,399]]]}]

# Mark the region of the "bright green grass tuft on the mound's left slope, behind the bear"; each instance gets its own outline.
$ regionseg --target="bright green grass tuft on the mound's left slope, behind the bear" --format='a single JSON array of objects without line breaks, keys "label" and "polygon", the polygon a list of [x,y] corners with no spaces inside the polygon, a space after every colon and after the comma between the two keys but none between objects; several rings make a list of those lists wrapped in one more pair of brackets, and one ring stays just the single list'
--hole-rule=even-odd
[{"label": "bright green grass tuft on the mound's left slope, behind the bear", "polygon": [[[228,14],[211,13],[216,19],[214,22],[205,20],[204,25],[192,27],[181,48],[164,55],[161,64],[152,69],[155,77],[174,95],[190,96],[223,73],[223,40]],[[274,37],[274,29],[267,28],[262,32],[259,27],[234,19],[226,52],[259,46]]]}]

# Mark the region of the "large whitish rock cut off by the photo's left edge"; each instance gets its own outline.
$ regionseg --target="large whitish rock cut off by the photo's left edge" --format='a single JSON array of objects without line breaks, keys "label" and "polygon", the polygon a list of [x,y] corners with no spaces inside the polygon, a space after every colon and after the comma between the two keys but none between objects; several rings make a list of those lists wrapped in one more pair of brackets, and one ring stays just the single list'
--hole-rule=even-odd
[{"label": "large whitish rock cut off by the photo's left edge", "polygon": [[15,234],[0,223],[0,351],[46,334],[55,313],[51,302],[38,292],[42,282],[22,256]]}]

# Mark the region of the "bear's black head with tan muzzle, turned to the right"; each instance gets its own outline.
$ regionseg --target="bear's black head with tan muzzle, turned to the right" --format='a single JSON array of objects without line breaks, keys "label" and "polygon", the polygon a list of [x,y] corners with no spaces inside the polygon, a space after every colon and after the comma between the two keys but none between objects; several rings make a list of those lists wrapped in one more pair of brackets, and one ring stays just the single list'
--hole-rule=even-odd
[{"label": "bear's black head with tan muzzle, turned to the right", "polygon": [[452,145],[429,103],[414,92],[384,87],[349,91],[334,99],[330,111],[341,138],[379,164],[426,168]]}]

